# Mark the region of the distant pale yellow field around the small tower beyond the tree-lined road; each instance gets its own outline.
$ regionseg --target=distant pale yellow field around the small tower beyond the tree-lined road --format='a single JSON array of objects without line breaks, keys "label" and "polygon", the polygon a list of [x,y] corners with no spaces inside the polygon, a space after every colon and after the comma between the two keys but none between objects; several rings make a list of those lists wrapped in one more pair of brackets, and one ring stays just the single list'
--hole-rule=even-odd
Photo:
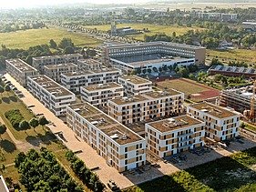
[{"label": "distant pale yellow field around the small tower beyond the tree-lined road", "polygon": [[[166,34],[172,35],[173,32],[176,32],[176,35],[183,35],[189,30],[203,30],[199,27],[186,27],[179,25],[150,25],[150,24],[118,24],[118,27],[130,26],[134,29],[142,30],[143,28],[148,28],[148,33],[138,34],[138,35],[128,35],[134,37],[138,40],[144,40],[144,35],[156,35],[156,34]],[[108,31],[110,25],[87,25],[87,28],[97,28],[97,30]]]}]

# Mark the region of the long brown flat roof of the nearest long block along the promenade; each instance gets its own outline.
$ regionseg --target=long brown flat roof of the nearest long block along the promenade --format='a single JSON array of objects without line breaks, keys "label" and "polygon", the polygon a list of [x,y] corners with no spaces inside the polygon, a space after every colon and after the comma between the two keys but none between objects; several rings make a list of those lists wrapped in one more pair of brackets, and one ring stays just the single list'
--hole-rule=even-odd
[{"label": "long brown flat roof of the nearest long block along the promenade", "polygon": [[94,126],[97,126],[107,136],[115,140],[119,145],[143,140],[141,136],[132,132],[127,126],[123,126],[117,120],[111,118],[96,107],[86,103],[74,104],[68,106],[83,116]]}]

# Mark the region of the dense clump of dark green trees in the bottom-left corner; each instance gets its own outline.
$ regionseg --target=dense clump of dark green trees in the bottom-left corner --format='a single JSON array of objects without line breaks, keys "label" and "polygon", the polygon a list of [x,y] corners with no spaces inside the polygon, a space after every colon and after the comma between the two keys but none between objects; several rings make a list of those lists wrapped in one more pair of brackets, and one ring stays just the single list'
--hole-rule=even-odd
[{"label": "dense clump of dark green trees in the bottom-left corner", "polygon": [[27,191],[83,191],[45,147],[39,152],[30,149],[26,154],[19,153],[15,157],[15,167],[20,174],[20,183]]}]

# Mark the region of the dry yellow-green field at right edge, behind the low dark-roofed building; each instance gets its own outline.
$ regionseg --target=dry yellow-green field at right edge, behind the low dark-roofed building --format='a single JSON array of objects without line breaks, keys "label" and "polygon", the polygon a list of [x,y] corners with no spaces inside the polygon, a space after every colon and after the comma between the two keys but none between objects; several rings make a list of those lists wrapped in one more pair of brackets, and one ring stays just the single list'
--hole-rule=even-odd
[{"label": "dry yellow-green field at right edge, behind the low dark-roofed building", "polygon": [[213,57],[218,56],[217,58],[225,63],[228,64],[229,61],[244,61],[248,64],[255,64],[256,65],[256,50],[246,50],[246,49],[233,49],[233,50],[207,50],[207,60],[208,62],[211,61]]}]

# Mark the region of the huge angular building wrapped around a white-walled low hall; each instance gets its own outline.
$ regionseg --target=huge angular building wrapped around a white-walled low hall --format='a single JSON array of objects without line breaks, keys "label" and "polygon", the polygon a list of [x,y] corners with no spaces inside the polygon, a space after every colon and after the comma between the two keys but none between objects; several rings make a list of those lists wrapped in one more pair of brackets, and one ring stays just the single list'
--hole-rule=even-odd
[{"label": "huge angular building wrapped around a white-walled low hall", "polygon": [[187,63],[204,65],[206,48],[170,42],[149,42],[131,45],[106,45],[102,48],[101,55],[104,63],[112,63],[120,67],[127,66],[128,68],[134,66],[135,68],[143,68],[144,66],[150,68],[155,66],[152,65],[155,63],[158,67],[174,64],[186,66]]}]

